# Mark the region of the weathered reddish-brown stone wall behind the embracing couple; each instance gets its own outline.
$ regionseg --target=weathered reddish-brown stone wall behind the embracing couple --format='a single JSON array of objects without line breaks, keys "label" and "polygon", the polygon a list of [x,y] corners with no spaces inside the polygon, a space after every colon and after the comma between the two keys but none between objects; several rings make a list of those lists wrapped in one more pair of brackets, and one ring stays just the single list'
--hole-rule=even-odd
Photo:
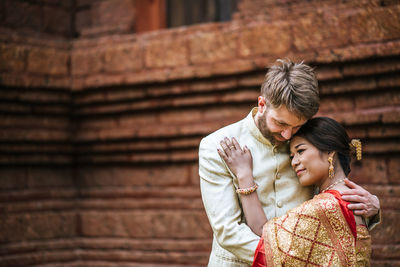
[{"label": "weathered reddish-brown stone wall behind the embracing couple", "polygon": [[364,143],[373,266],[400,265],[400,2],[0,1],[0,265],[205,266],[197,149],[277,58]]}]

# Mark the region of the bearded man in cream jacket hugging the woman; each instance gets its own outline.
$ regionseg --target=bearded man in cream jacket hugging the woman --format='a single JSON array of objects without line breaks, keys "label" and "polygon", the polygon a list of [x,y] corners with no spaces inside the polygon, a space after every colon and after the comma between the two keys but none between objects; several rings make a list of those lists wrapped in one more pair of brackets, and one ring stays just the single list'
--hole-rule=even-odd
[{"label": "bearded man in cream jacket hugging the woman", "polygon": [[[318,82],[314,70],[304,63],[277,60],[267,72],[258,107],[246,118],[203,138],[199,148],[200,188],[213,230],[208,266],[249,266],[259,236],[246,225],[237,178],[217,153],[220,141],[231,138],[245,144],[253,156],[257,193],[268,219],[281,216],[313,196],[302,187],[291,168],[288,140],[319,108]],[[347,201],[355,214],[370,217],[379,211],[379,200],[352,184]],[[370,223],[372,226],[372,223]]]}]

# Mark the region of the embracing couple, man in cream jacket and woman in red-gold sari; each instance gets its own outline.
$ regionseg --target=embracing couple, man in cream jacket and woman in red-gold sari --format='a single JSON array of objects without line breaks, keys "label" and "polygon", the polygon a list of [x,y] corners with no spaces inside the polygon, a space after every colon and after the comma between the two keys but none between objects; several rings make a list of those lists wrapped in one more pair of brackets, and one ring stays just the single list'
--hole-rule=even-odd
[{"label": "embracing couple, man in cream jacket and woman in red-gold sari", "polygon": [[319,108],[311,67],[278,60],[258,107],[199,148],[208,266],[369,266],[379,200],[347,179],[359,140]]}]

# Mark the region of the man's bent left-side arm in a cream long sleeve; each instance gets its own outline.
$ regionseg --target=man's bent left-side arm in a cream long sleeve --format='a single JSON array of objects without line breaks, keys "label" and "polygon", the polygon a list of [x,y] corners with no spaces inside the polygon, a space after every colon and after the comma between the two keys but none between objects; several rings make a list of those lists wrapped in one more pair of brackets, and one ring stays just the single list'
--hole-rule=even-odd
[{"label": "man's bent left-side arm in a cream long sleeve", "polygon": [[259,237],[244,223],[236,188],[219,145],[203,139],[199,149],[200,189],[204,207],[217,242],[238,259],[252,263]]}]

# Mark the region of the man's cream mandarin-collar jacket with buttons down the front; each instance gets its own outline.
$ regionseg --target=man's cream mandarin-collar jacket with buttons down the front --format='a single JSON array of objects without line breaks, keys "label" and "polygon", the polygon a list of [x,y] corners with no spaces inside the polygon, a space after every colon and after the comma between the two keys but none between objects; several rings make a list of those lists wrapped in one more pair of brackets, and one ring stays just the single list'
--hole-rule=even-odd
[{"label": "man's cream mandarin-collar jacket with buttons down the front", "polygon": [[268,219],[281,216],[312,197],[312,188],[299,184],[291,168],[288,144],[275,147],[254,122],[257,108],[241,121],[203,138],[199,148],[200,188],[214,240],[208,266],[249,266],[259,237],[246,225],[237,178],[220,158],[217,148],[224,137],[247,145],[253,157],[253,177]]}]

